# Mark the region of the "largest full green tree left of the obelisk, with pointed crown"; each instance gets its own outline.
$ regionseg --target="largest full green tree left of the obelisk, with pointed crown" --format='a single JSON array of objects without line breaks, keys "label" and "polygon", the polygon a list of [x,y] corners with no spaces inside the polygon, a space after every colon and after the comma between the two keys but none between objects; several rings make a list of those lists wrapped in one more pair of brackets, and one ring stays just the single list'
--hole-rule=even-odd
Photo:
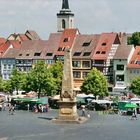
[{"label": "largest full green tree left of the obelisk, with pointed crown", "polygon": [[27,74],[24,89],[37,92],[40,98],[41,94],[51,95],[55,88],[55,80],[48,66],[44,61],[38,61]]}]

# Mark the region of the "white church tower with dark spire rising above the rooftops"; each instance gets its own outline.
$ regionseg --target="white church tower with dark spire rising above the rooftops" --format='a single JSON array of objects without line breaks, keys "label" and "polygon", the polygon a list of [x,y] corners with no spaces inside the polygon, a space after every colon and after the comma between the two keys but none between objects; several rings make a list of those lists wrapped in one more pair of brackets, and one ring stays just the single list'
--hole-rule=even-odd
[{"label": "white church tower with dark spire rising above the rooftops", "polygon": [[57,31],[62,32],[66,28],[74,28],[74,14],[69,9],[68,0],[63,0],[62,9],[57,13]]}]

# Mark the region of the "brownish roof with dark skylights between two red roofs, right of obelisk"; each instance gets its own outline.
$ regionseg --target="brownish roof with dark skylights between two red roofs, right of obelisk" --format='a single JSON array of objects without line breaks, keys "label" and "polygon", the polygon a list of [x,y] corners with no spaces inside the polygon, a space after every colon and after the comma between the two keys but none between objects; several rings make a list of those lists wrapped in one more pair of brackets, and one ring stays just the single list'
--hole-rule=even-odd
[{"label": "brownish roof with dark skylights between two red roofs, right of obelisk", "polygon": [[[72,58],[92,58],[100,35],[77,35],[72,48]],[[79,55],[76,55],[76,53]]]}]

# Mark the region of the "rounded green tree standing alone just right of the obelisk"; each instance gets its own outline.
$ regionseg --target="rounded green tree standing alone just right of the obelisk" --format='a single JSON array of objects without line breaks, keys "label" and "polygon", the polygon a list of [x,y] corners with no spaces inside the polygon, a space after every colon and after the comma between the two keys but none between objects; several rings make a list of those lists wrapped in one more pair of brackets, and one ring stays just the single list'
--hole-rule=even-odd
[{"label": "rounded green tree standing alone just right of the obelisk", "polygon": [[81,91],[86,94],[93,94],[96,96],[104,97],[108,95],[108,83],[105,76],[96,68],[92,69],[85,78]]}]

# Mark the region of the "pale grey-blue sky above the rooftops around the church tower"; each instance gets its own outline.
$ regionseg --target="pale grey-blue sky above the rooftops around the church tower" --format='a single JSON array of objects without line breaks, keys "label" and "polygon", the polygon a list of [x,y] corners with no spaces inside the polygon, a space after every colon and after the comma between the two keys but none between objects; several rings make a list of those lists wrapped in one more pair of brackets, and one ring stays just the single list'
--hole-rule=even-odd
[{"label": "pale grey-blue sky above the rooftops around the church tower", "polygon": [[[43,39],[57,31],[62,0],[0,0],[0,37],[35,30]],[[140,31],[140,0],[69,0],[82,34]]]}]

